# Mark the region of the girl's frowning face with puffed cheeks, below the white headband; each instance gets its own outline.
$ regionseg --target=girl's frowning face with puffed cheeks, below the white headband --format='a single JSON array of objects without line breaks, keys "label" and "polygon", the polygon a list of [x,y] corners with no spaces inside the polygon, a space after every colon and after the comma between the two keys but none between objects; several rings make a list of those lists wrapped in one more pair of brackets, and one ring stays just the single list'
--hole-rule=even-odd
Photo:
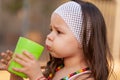
[{"label": "girl's frowning face with puffed cheeks, below the white headband", "polygon": [[46,39],[46,47],[53,57],[71,57],[80,52],[77,39],[64,20],[56,13],[51,16],[50,30]]}]

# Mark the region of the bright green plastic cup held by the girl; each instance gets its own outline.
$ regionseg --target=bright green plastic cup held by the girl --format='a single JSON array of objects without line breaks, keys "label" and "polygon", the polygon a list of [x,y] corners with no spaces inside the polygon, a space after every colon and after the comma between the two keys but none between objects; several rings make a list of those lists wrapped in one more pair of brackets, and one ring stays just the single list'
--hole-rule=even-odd
[{"label": "bright green plastic cup held by the girl", "polygon": [[[28,51],[36,58],[36,60],[38,60],[39,57],[41,56],[41,53],[43,52],[43,50],[44,50],[44,47],[42,45],[39,45],[36,42],[26,39],[24,37],[20,37],[17,42],[16,48],[14,51],[14,55],[22,54],[23,51]],[[14,57],[14,55],[13,55],[13,57]],[[27,78],[26,74],[14,71],[12,69],[13,67],[14,68],[22,68],[22,66],[20,64],[18,64],[13,59],[11,59],[10,65],[8,67],[8,71],[10,71],[11,73],[14,73],[20,77]]]}]

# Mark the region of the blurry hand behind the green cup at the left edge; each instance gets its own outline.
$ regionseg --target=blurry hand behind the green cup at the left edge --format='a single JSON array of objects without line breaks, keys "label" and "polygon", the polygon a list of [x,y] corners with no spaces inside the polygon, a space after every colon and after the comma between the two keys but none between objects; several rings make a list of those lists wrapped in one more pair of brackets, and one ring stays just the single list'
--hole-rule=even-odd
[{"label": "blurry hand behind the green cup at the left edge", "polygon": [[13,52],[10,50],[7,50],[6,52],[0,53],[1,59],[0,59],[0,70],[7,70],[9,61],[11,60],[13,55]]}]

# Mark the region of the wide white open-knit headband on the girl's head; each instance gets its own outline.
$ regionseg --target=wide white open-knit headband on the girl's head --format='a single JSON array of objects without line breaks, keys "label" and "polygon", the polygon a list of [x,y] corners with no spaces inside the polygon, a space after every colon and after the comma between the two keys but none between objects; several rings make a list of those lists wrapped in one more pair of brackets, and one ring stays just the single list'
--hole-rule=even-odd
[{"label": "wide white open-knit headband on the girl's head", "polygon": [[59,6],[54,13],[57,13],[62,19],[67,23],[70,30],[73,32],[76,39],[82,43],[82,39],[80,37],[81,29],[82,29],[82,10],[80,4],[69,1],[61,6]]}]

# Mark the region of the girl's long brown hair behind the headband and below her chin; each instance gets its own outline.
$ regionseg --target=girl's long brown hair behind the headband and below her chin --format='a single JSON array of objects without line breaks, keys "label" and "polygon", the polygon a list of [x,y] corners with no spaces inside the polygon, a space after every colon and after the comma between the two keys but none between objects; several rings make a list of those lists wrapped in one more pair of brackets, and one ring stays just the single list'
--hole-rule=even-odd
[{"label": "girl's long brown hair behind the headband and below her chin", "polygon": [[[82,25],[82,38],[83,38],[83,51],[84,56],[92,71],[91,76],[95,80],[108,80],[110,74],[110,64],[108,61],[112,61],[112,55],[109,50],[107,42],[106,24],[100,10],[89,2],[83,2],[81,0],[72,0],[81,5],[83,15]],[[88,24],[90,22],[90,24]],[[91,34],[88,33],[88,25],[91,30]],[[90,36],[87,43],[87,36]],[[59,65],[63,64],[62,59],[54,58],[50,56],[50,61],[46,67],[45,76],[48,77],[50,73],[55,74],[55,69]]]}]

